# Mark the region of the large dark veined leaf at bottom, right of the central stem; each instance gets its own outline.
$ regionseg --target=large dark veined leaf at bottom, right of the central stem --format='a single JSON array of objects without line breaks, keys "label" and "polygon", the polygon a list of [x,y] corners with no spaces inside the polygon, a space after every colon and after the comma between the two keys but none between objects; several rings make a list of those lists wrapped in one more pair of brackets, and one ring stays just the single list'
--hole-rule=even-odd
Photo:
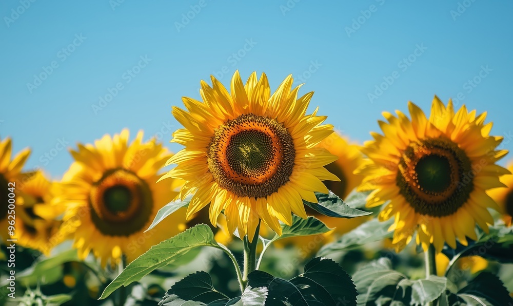
[{"label": "large dark veined leaf at bottom, right of the central stem", "polygon": [[351,278],[338,263],[326,258],[314,258],[305,266],[305,272],[291,280],[275,278],[253,271],[248,276],[252,287],[268,289],[270,305],[336,305],[356,304],[357,291]]}]

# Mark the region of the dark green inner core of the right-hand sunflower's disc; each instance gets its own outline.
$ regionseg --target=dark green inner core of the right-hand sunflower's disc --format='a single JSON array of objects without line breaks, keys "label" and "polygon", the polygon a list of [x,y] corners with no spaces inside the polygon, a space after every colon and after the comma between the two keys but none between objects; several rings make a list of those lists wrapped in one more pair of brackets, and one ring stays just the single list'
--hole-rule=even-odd
[{"label": "dark green inner core of the right-hand sunflower's disc", "polygon": [[447,158],[439,155],[427,155],[419,160],[415,167],[420,188],[432,193],[441,193],[451,182],[451,168]]}]

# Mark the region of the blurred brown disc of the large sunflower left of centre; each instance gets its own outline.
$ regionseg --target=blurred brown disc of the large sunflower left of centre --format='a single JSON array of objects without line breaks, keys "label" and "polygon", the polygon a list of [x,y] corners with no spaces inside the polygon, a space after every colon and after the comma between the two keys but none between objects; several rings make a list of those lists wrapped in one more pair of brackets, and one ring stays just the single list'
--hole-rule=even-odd
[{"label": "blurred brown disc of the large sunflower left of centre", "polygon": [[129,170],[106,171],[89,196],[91,220],[105,235],[129,236],[143,229],[153,209],[151,190]]}]

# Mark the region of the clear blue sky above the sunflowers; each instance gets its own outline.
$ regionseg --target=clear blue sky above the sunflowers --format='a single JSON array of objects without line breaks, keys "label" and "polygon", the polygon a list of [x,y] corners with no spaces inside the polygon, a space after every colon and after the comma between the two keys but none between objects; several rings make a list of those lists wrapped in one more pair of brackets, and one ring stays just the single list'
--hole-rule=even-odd
[{"label": "clear blue sky above the sunflowers", "polygon": [[243,79],[265,72],[271,90],[292,73],[300,93],[315,91],[309,110],[319,105],[355,142],[378,130],[382,111],[408,100],[429,111],[437,94],[488,111],[511,150],[511,10],[483,0],[3,1],[0,137],[31,147],[26,169],[54,178],[72,162],[67,148],[125,127],[177,151],[171,106],[199,99],[210,74],[228,85],[239,69]]}]

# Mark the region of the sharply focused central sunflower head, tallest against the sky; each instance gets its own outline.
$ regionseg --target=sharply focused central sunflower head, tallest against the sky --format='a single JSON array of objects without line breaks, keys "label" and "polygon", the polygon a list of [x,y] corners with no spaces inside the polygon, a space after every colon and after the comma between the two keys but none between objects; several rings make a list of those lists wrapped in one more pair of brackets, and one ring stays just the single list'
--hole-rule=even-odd
[{"label": "sharply focused central sunflower head, tallest against the sky", "polygon": [[185,146],[168,160],[177,164],[164,178],[186,181],[180,197],[195,193],[187,218],[210,204],[212,224],[223,211],[228,229],[238,228],[252,241],[259,220],[281,234],[278,220],[292,223],[294,213],[306,218],[303,199],[317,203],[314,192],[327,193],[322,180],[338,180],[324,168],[337,159],[315,148],[332,132],[326,119],[305,115],[313,92],[298,99],[289,75],[271,95],[267,76],[253,72],[246,85],[239,71],[231,94],[213,76],[212,87],[201,82],[203,102],[182,98],[187,110],[173,106],[185,129],[173,140]]}]

